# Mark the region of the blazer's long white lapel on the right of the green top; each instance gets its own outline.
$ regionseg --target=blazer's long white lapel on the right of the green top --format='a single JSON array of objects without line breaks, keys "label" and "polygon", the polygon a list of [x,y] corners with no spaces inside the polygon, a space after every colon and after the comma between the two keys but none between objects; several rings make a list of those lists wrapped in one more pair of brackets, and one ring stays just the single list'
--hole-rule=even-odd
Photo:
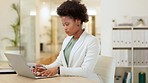
[{"label": "blazer's long white lapel on the right of the green top", "polygon": [[75,52],[79,49],[79,47],[83,44],[84,42],[84,39],[86,37],[86,32],[84,31],[82,33],[82,35],[80,36],[80,38],[78,39],[78,41],[75,43],[75,45],[73,46],[71,52],[70,52],[70,56],[69,56],[69,63],[68,63],[68,66],[71,65],[71,61],[72,61],[72,58],[75,54]]}]

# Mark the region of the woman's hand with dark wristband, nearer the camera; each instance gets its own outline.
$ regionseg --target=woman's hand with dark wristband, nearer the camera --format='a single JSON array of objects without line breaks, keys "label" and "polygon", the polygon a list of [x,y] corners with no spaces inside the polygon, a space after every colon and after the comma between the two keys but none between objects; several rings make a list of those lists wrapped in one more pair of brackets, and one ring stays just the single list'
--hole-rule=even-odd
[{"label": "woman's hand with dark wristband, nearer the camera", "polygon": [[56,74],[58,74],[58,67],[49,68],[49,69],[44,70],[40,73],[41,76],[47,76],[47,77],[51,77]]}]

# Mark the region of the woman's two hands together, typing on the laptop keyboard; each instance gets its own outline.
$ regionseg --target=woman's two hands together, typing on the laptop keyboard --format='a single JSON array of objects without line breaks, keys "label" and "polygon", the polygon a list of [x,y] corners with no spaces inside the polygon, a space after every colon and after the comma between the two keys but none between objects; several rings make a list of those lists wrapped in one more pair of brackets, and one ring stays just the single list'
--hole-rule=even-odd
[{"label": "woman's two hands together, typing on the laptop keyboard", "polygon": [[36,76],[51,77],[51,76],[54,76],[58,73],[58,67],[46,69],[44,66],[38,64],[35,66],[35,68],[32,69],[32,72]]}]

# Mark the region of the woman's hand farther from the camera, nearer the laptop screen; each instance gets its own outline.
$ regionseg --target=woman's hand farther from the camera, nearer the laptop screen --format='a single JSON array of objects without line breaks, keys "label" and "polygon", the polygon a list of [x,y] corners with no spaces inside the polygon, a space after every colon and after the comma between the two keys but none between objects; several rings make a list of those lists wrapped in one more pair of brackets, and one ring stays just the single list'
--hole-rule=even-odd
[{"label": "woman's hand farther from the camera, nearer the laptop screen", "polygon": [[47,70],[43,65],[37,64],[33,69],[32,72],[36,76],[40,76],[42,71]]}]

